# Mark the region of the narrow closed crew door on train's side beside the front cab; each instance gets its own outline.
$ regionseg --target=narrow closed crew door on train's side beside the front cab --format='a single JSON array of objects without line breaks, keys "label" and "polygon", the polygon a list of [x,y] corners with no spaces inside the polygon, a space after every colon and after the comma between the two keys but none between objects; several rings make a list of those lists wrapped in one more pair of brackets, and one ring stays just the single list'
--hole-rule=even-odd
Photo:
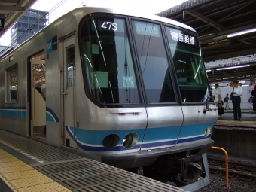
[{"label": "narrow closed crew door on train's side beside the front cab", "polygon": [[75,36],[64,41],[63,108],[65,145],[76,148],[75,139]]}]

